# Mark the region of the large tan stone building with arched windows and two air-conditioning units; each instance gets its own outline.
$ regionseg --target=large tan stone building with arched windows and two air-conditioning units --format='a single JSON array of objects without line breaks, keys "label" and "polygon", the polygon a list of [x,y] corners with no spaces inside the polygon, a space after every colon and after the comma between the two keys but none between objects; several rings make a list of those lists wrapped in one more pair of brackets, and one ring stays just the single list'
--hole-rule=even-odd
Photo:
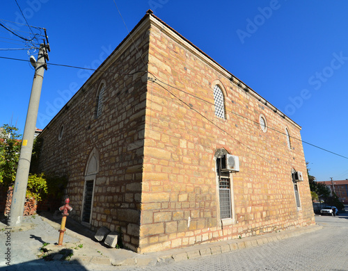
[{"label": "large tan stone building with arched windows and two air-conditioning units", "polygon": [[314,224],[300,130],[148,11],[40,133],[40,168],[75,220],[159,251]]}]

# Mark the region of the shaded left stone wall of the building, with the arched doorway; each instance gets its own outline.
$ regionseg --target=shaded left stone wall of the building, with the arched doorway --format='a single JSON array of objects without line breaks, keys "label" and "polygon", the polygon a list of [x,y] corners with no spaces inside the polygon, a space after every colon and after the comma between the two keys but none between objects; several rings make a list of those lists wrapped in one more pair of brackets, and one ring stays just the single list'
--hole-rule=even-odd
[{"label": "shaded left stone wall of the building, with the arched doorway", "polygon": [[[148,34],[135,44],[147,61]],[[81,221],[84,174],[88,157],[96,148],[100,171],[95,181],[91,229],[106,227],[123,233],[123,243],[134,250],[139,244],[143,134],[145,124],[145,65],[134,44],[113,60],[107,72],[95,72],[77,95],[49,123],[44,138],[40,169],[67,175],[66,196],[74,208],[71,216]],[[104,81],[102,115],[95,118],[97,90]],[[64,125],[63,137],[58,132]]]}]

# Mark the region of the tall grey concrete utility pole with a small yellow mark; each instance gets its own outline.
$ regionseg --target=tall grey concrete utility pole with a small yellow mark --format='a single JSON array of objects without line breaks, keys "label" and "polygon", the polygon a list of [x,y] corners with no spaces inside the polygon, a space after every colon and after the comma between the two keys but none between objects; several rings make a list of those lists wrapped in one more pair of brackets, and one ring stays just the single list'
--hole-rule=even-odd
[{"label": "tall grey concrete utility pole with a small yellow mark", "polygon": [[22,139],[22,148],[19,154],[15,187],[13,188],[13,198],[10,209],[10,227],[19,226],[22,223],[26,186],[28,185],[29,167],[31,161],[31,152],[33,151],[34,133],[36,120],[38,117],[42,80],[46,69],[45,58],[47,58],[46,46],[45,44],[40,44],[38,61],[35,61],[35,58],[31,57],[31,64],[35,67],[35,74],[33,79],[33,86],[31,88],[28,113],[26,113],[26,122]]}]

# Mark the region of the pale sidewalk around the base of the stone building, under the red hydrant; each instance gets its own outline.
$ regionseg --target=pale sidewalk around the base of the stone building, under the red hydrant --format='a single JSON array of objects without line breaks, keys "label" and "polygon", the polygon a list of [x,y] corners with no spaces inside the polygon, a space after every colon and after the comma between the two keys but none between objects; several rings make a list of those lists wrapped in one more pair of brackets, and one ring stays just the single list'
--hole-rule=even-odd
[{"label": "pale sidewalk around the base of the stone building, under the red hydrant", "polygon": [[[0,224],[0,229],[6,229],[6,224]],[[17,245],[17,247],[16,244],[13,245],[13,263],[19,264],[26,261],[34,261],[38,260],[38,256],[45,256],[46,260],[49,259],[50,261],[79,263],[79,265],[86,267],[86,270],[96,266],[101,268],[101,265],[104,270],[109,269],[109,267],[112,268],[111,265],[159,265],[161,263],[185,261],[192,258],[221,254],[246,247],[256,247],[265,243],[317,231],[322,229],[322,227],[317,225],[303,227],[268,233],[262,236],[205,243],[148,254],[136,254],[127,249],[106,247],[106,245],[94,239],[95,233],[93,231],[69,218],[67,220],[67,231],[65,231],[63,246],[58,247],[54,245],[54,243],[58,242],[58,229],[60,229],[59,217],[54,217],[50,213],[24,217],[22,226],[19,229],[13,228],[11,230],[16,244],[26,244],[25,251],[20,245]],[[1,234],[1,244],[5,242],[4,238],[6,238],[6,235]],[[47,243],[50,244],[46,245]],[[42,248],[41,251],[40,248]],[[0,267],[4,266],[2,261],[0,261]]]}]

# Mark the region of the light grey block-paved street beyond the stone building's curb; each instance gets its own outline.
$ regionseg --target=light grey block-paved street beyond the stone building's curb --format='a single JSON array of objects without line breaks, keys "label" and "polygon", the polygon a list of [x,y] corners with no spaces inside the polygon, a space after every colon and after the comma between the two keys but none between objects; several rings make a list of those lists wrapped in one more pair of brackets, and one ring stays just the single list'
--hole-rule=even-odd
[{"label": "light grey block-paved street beyond the stone building's curb", "polygon": [[122,270],[348,270],[348,217],[316,217],[323,229],[225,254]]}]

